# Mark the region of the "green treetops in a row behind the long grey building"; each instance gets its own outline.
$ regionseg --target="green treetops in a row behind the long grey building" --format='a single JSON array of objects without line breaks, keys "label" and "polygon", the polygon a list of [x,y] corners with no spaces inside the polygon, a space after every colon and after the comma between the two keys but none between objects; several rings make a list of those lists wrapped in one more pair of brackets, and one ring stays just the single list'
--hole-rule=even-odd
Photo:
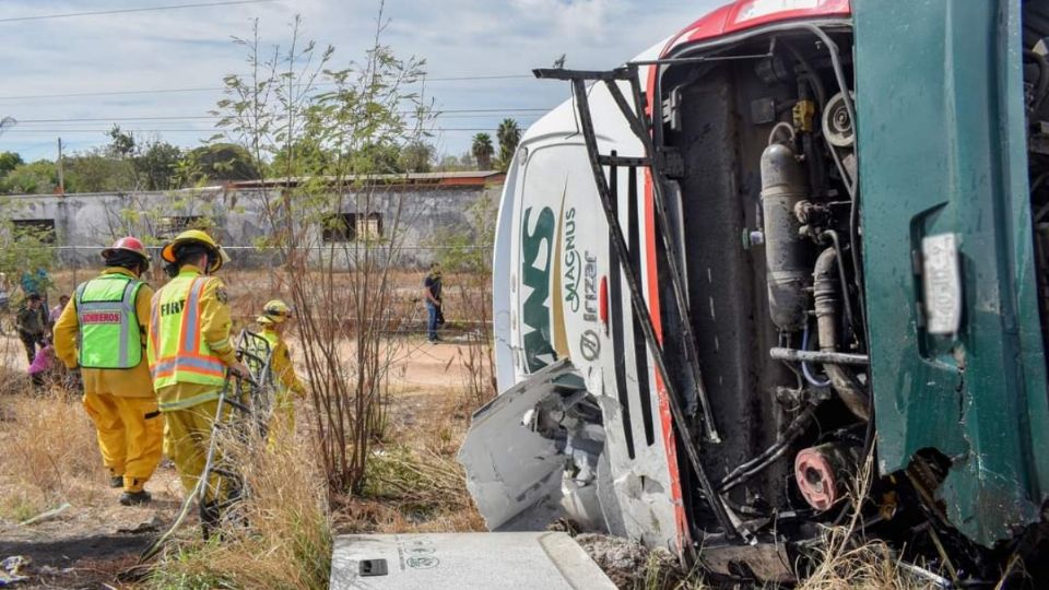
[{"label": "green treetops in a row behind the long grey building", "polygon": [[[331,98],[327,101],[329,106]],[[315,107],[323,102],[321,97]],[[327,141],[329,132],[319,126],[321,118],[318,108],[307,110],[304,120],[296,123],[294,142],[272,141],[270,146],[275,149],[257,154],[250,145],[227,141],[182,150],[158,137],[140,138],[114,125],[107,133],[107,145],[62,158],[66,192],[172,190],[262,177],[322,176],[337,174],[340,166],[345,167],[347,158],[354,157],[369,162],[370,174],[493,167],[505,172],[521,138],[517,121],[504,119],[495,133],[497,150],[490,133],[478,133],[469,153],[438,156],[434,146],[425,141],[425,133],[420,133],[411,141],[364,144],[347,154]],[[238,125],[244,122],[231,118],[220,122],[220,128]],[[17,153],[0,152],[0,194],[50,194],[58,190],[57,162],[25,162]]]}]

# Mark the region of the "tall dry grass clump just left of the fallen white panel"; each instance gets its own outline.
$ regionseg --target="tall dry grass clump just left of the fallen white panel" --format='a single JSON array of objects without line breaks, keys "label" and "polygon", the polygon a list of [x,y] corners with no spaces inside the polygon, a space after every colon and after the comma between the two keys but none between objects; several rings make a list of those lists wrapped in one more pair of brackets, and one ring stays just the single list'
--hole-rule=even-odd
[{"label": "tall dry grass clump just left of the fallen white panel", "polygon": [[307,445],[291,442],[266,452],[263,446],[224,445],[251,491],[238,506],[249,526],[226,522],[222,541],[182,541],[168,547],[150,587],[328,587],[332,538],[325,477]]}]

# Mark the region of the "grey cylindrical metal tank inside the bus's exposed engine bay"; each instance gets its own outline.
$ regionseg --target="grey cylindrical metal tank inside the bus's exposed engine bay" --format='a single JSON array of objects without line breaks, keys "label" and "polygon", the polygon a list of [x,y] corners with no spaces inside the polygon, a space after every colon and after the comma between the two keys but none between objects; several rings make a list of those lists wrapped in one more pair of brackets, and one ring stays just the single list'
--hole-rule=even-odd
[{"label": "grey cylindrical metal tank inside the bus's exposed engine bay", "polygon": [[762,212],[765,217],[765,264],[768,310],[780,330],[805,327],[812,298],[812,245],[801,235],[794,205],[809,196],[804,168],[787,145],[774,143],[762,153]]}]

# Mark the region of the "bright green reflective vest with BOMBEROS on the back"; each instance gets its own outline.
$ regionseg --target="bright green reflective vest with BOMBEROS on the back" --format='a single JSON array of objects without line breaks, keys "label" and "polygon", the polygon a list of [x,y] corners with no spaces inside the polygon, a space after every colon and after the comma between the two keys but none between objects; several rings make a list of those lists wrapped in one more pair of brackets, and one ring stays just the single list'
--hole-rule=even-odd
[{"label": "bright green reflective vest with BOMBEROS on the back", "polygon": [[134,299],[142,281],[103,274],[76,287],[80,366],[127,369],[142,362],[142,334]]}]

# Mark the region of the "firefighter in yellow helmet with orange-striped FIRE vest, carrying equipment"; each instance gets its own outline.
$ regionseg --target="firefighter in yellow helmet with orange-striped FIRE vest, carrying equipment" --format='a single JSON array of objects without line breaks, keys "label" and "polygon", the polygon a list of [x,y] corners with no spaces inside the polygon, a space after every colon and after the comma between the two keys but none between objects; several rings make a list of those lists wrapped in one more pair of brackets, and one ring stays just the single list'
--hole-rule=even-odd
[{"label": "firefighter in yellow helmet with orange-striped FIRE vest, carrying equipment", "polygon": [[[203,472],[219,393],[226,375],[248,377],[229,342],[229,308],[222,281],[212,276],[228,261],[204,232],[189,229],[161,251],[178,274],[153,296],[148,354],[153,387],[167,421],[164,449],[190,493]],[[217,524],[217,476],[205,482],[201,505],[207,532]],[[228,491],[227,491],[228,494]]]}]

